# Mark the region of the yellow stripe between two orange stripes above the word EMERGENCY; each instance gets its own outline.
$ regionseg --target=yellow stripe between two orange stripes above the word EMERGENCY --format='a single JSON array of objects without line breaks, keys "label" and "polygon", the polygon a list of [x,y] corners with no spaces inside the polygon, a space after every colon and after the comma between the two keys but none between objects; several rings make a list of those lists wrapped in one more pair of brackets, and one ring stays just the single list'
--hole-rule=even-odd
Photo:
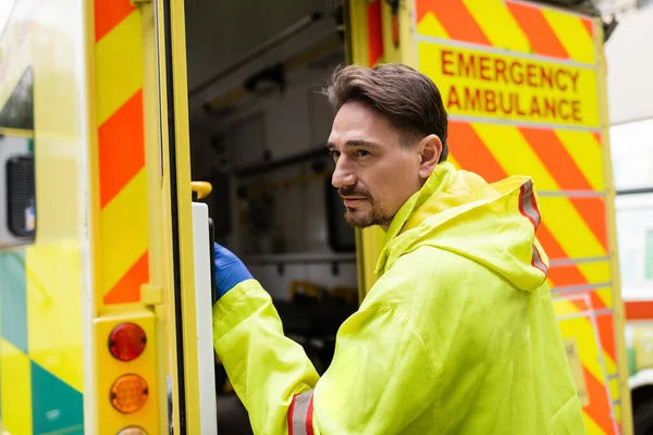
[{"label": "yellow stripe between two orange stripes above the word EMERGENCY", "polygon": [[531,52],[526,34],[503,0],[463,0],[469,13],[496,48]]}]

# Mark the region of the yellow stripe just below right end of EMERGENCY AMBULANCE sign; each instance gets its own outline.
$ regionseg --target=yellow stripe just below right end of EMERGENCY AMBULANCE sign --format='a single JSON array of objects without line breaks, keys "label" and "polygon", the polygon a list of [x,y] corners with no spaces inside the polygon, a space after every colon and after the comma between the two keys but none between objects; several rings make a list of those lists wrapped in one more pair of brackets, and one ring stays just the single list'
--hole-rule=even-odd
[{"label": "yellow stripe just below right end of EMERGENCY AMBULANCE sign", "polygon": [[603,156],[594,135],[590,132],[557,129],[555,135],[567,149],[567,152],[582,175],[597,191],[604,189]]}]

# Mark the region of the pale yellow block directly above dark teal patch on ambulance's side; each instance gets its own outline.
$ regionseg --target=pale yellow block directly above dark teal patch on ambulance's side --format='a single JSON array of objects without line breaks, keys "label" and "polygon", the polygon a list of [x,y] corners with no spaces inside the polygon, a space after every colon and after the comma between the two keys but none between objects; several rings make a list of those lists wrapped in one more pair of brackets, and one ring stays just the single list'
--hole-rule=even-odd
[{"label": "pale yellow block directly above dark teal patch on ambulance's side", "polygon": [[29,246],[25,250],[25,264],[29,358],[83,393],[82,272],[77,243]]}]

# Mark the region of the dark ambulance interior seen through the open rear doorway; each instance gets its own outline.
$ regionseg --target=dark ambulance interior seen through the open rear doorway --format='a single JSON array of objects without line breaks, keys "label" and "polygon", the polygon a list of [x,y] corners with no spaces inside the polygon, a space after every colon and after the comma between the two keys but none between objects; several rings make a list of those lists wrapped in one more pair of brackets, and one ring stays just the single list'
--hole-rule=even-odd
[{"label": "dark ambulance interior seen through the open rear doorway", "polygon": [[[320,373],[358,304],[320,94],[345,63],[342,21],[334,0],[186,2],[193,179],[212,184],[215,241],[260,281]],[[219,432],[250,433],[219,364],[217,385]]]}]

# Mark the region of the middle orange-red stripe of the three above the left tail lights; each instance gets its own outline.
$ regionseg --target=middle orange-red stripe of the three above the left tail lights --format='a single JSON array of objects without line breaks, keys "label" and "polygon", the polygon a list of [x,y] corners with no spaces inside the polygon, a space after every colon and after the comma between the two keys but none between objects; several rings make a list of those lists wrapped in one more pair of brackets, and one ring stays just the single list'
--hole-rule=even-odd
[{"label": "middle orange-red stripe of the three above the left tail lights", "polygon": [[143,90],[98,129],[100,207],[104,208],[145,166]]}]

